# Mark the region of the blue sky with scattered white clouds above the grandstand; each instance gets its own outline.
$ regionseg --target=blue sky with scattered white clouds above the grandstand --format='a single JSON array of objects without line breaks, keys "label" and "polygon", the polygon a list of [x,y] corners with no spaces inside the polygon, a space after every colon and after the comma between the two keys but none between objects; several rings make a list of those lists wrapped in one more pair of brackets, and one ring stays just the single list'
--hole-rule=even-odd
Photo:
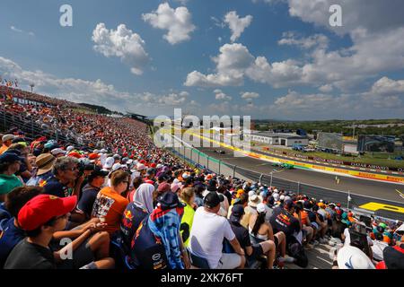
[{"label": "blue sky with scattered white clouds above the grandstand", "polygon": [[146,116],[404,115],[402,0],[0,4],[0,76],[24,90]]}]

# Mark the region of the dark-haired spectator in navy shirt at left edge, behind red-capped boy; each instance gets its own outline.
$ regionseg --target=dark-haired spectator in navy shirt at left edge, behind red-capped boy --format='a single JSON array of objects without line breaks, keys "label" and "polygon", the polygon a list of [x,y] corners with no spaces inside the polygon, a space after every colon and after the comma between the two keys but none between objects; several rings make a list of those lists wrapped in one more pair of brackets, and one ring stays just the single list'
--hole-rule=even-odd
[{"label": "dark-haired spectator in navy shirt at left edge, behind red-capped boy", "polygon": [[5,196],[4,212],[8,216],[0,218],[0,268],[13,248],[25,238],[25,232],[17,222],[18,213],[23,205],[42,192],[42,187],[16,187]]}]

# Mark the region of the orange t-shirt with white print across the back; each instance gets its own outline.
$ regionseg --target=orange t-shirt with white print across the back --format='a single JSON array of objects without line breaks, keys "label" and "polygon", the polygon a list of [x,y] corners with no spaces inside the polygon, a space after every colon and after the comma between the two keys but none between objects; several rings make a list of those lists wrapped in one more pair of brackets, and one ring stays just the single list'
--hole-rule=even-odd
[{"label": "orange t-shirt with white print across the back", "polygon": [[127,198],[120,196],[111,187],[104,187],[100,190],[92,207],[92,217],[104,218],[107,224],[105,231],[110,234],[119,230],[119,223],[127,208]]}]

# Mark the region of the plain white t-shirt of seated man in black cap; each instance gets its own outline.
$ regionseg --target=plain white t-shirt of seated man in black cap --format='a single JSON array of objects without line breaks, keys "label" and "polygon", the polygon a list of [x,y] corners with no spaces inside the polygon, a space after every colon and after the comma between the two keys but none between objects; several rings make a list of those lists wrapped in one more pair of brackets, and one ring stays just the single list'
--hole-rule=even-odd
[{"label": "plain white t-shirt of seated man in black cap", "polygon": [[206,258],[210,268],[215,269],[222,257],[224,238],[229,241],[235,238],[227,219],[199,207],[190,231],[189,250],[198,257]]}]

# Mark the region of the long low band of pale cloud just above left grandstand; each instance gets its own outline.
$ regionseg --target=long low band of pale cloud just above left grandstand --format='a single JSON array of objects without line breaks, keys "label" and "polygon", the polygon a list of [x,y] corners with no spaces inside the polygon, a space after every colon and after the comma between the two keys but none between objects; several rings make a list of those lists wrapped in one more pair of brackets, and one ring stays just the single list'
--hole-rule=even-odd
[{"label": "long low band of pale cloud just above left grandstand", "polygon": [[35,83],[35,91],[58,99],[74,102],[87,102],[104,106],[107,109],[126,112],[128,110],[145,115],[171,115],[174,107],[198,107],[190,100],[187,91],[171,91],[155,94],[151,92],[131,93],[119,91],[113,85],[100,79],[86,81],[73,78],[57,78],[42,71],[24,70],[10,59],[0,57],[0,74],[4,78],[18,79],[20,87]]}]

